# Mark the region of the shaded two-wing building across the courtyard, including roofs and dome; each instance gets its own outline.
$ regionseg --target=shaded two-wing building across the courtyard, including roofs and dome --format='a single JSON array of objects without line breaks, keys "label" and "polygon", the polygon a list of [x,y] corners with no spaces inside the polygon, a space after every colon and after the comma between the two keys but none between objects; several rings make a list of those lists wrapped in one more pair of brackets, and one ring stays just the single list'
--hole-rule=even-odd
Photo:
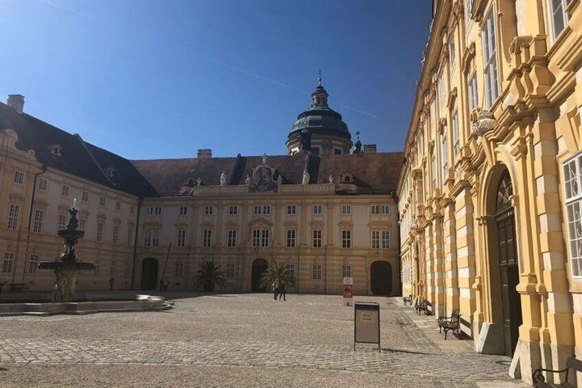
[{"label": "shaded two-wing building across the courtyard, including roofs and dome", "polygon": [[[22,95],[0,103],[0,284],[52,290],[76,198],[77,245],[95,271],[78,288],[194,290],[215,260],[226,292],[264,291],[269,263],[286,262],[298,293],[399,295],[395,190],[401,152],[355,144],[327,105],[321,78],[292,125],[287,155],[129,161],[24,111]],[[352,150],[353,148],[353,150]]]}]

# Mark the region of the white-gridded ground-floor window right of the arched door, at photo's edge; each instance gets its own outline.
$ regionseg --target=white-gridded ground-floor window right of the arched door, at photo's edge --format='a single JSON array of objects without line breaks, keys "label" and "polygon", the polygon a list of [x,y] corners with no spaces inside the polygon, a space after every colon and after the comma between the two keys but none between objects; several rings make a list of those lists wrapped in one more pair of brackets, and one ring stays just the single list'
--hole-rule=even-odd
[{"label": "white-gridded ground-floor window right of the arched door, at photo's edge", "polygon": [[572,279],[582,280],[582,155],[563,164]]}]

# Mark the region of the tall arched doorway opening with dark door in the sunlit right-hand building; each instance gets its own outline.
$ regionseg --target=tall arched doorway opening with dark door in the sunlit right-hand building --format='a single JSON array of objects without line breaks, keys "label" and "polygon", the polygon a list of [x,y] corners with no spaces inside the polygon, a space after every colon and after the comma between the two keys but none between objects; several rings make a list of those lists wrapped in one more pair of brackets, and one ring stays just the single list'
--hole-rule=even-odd
[{"label": "tall arched doorway opening with dark door in the sunlit right-hand building", "polygon": [[[499,178],[495,196],[495,222],[489,233],[489,264],[491,268],[491,300],[501,297],[501,306],[492,306],[493,321],[502,323],[505,354],[513,356],[522,324],[522,303],[517,293],[520,269],[515,241],[515,209],[511,203],[513,184],[505,169]],[[496,288],[496,289],[495,289]]]}]

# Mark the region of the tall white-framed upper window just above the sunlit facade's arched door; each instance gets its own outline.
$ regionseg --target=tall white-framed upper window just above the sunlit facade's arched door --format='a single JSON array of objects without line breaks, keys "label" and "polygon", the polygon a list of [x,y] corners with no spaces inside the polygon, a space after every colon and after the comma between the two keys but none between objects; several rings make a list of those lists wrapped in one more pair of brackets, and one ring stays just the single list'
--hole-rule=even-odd
[{"label": "tall white-framed upper window just above the sunlit facade's arched door", "polygon": [[491,7],[487,18],[483,21],[481,36],[483,44],[483,72],[485,75],[485,95],[487,96],[487,108],[491,109],[493,103],[499,97],[497,79],[497,43],[494,7]]}]

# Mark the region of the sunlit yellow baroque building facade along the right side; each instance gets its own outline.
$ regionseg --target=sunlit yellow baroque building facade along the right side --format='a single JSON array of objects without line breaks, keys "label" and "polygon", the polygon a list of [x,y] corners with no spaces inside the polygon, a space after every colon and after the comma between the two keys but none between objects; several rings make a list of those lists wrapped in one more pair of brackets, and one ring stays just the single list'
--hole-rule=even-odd
[{"label": "sunlit yellow baroque building facade along the right side", "polygon": [[581,67],[580,1],[433,3],[397,189],[403,293],[458,310],[528,382],[582,358]]}]

